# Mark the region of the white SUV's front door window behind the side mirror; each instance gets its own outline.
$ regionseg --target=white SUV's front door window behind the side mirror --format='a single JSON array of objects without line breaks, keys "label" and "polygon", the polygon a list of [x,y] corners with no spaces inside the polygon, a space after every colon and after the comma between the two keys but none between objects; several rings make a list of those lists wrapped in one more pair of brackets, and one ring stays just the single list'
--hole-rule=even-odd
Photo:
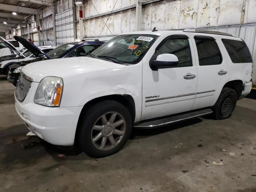
[{"label": "white SUV's front door window behind the side mirror", "polygon": [[174,67],[188,67],[192,66],[191,52],[186,37],[171,37],[164,40],[164,43],[157,48],[157,52],[153,56],[153,60],[156,60],[160,54],[174,54],[179,59],[179,64]]}]

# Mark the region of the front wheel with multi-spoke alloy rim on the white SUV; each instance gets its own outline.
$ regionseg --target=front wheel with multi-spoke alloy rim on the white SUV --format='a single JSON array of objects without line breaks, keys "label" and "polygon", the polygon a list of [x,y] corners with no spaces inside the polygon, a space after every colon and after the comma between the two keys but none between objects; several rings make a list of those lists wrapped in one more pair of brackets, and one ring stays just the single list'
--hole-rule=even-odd
[{"label": "front wheel with multi-spoke alloy rim on the white SUV", "polygon": [[78,130],[80,148],[92,158],[118,152],[132,130],[130,112],[119,102],[107,100],[91,106]]}]

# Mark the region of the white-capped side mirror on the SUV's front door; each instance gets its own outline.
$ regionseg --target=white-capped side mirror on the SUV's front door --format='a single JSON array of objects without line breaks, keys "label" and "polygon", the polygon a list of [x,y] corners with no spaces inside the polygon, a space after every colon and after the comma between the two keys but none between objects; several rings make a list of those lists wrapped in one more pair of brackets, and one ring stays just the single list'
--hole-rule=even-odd
[{"label": "white-capped side mirror on the SUV's front door", "polygon": [[162,68],[171,68],[178,65],[179,59],[174,54],[160,54],[156,60],[150,60],[149,66],[153,71],[157,71]]}]

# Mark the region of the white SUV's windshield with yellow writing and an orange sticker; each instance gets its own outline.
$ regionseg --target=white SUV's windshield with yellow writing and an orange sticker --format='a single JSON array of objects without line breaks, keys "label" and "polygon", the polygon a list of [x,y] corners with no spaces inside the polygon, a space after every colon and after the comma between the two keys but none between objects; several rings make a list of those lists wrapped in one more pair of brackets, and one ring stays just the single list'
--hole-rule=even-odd
[{"label": "white SUV's windshield with yellow writing and an orange sticker", "polygon": [[142,60],[157,37],[150,34],[118,35],[92,52],[92,55],[96,58],[105,56],[121,63],[136,64]]}]

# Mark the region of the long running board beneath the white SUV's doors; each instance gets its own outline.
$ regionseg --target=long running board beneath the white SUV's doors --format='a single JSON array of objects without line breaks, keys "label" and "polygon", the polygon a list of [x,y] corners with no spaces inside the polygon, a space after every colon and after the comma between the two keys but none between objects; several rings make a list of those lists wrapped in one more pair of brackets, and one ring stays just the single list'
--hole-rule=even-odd
[{"label": "long running board beneath the white SUV's doors", "polygon": [[167,126],[170,124],[190,120],[193,118],[197,118],[197,117],[201,117],[209,114],[212,114],[211,109],[203,109],[199,111],[188,112],[181,115],[176,115],[171,117],[169,116],[162,119],[139,122],[138,124],[135,124],[133,127],[140,128],[140,129],[157,128],[157,127]]}]

